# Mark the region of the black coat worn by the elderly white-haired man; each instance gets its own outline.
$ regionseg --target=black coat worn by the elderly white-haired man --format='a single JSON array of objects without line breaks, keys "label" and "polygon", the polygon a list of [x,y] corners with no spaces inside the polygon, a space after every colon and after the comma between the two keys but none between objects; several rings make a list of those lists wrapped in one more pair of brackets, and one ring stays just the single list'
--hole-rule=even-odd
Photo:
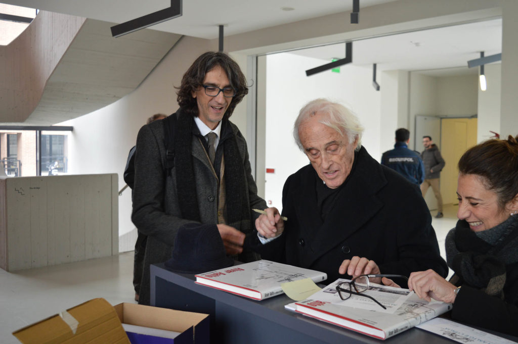
[{"label": "black coat worn by the elderly white-haired man", "polygon": [[375,261],[382,274],[409,276],[431,268],[445,277],[448,267],[419,188],[364,147],[355,159],[324,220],[316,199],[322,180],[311,164],[288,177],[282,191],[284,232],[264,245],[256,239],[253,249],[264,259],[325,272],[329,283],[349,278],[338,268],[354,256]]}]

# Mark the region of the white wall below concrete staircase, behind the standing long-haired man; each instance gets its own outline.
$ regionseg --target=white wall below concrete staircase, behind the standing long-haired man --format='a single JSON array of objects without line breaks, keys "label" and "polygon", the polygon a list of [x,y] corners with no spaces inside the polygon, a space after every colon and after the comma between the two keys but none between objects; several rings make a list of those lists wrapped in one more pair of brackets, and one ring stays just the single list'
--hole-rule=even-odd
[{"label": "white wall below concrete staircase, behind the standing long-haired man", "polygon": [[[118,173],[121,189],[125,185],[127,154],[135,145],[138,130],[151,115],[177,110],[174,86],[180,85],[183,73],[197,56],[213,49],[208,40],[184,37],[133,93],[103,109],[61,123],[74,126],[69,140],[69,173]],[[119,197],[120,236],[135,228],[131,208],[128,188]]]}]

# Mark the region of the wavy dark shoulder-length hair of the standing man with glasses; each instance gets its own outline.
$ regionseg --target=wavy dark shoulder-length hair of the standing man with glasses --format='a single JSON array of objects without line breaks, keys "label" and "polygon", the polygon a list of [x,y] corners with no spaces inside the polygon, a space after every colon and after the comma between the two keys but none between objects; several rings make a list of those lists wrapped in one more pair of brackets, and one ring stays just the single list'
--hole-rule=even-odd
[{"label": "wavy dark shoulder-length hair of the standing man with glasses", "polygon": [[238,64],[225,53],[209,51],[196,58],[196,61],[183,74],[180,87],[175,87],[178,89],[176,100],[186,113],[194,117],[198,116],[198,105],[192,93],[203,85],[205,74],[216,66],[220,66],[225,71],[230,85],[236,92],[223,116],[224,119],[228,119],[232,115],[236,105],[247,95],[247,80]]}]

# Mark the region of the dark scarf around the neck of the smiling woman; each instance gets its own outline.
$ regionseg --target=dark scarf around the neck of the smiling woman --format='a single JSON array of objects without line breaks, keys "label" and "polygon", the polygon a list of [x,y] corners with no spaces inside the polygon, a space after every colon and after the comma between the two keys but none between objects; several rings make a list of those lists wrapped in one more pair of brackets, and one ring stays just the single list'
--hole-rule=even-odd
[{"label": "dark scarf around the neck of the smiling woman", "polygon": [[501,231],[501,236],[490,244],[470,230],[465,220],[459,220],[446,237],[448,265],[455,272],[450,282],[466,282],[488,295],[502,299],[506,283],[506,265],[518,262],[518,216],[511,216],[488,231]]}]

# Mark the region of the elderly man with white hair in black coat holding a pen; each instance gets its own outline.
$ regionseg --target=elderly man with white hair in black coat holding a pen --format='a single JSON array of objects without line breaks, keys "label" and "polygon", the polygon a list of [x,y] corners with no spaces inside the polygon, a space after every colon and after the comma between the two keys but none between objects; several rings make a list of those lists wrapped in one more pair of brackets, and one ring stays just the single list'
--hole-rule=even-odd
[{"label": "elderly man with white hair in black coat holding a pen", "polygon": [[[287,220],[271,207],[255,221],[251,245],[263,259],[326,272],[328,281],[408,277],[426,269],[447,276],[419,189],[367,153],[363,127],[350,110],[326,99],[310,101],[293,133],[310,164],[284,184]],[[403,278],[396,282],[406,286]]]}]

